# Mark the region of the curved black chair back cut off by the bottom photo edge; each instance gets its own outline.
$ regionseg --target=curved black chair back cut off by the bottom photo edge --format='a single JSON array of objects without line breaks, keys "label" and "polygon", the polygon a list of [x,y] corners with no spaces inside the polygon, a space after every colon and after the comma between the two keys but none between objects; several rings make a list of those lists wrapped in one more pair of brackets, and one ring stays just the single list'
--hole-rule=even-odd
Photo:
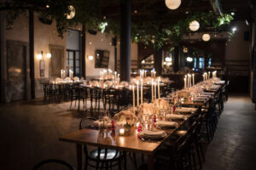
[{"label": "curved black chair back cut off by the bottom photo edge", "polygon": [[[49,165],[51,165],[49,169]],[[75,170],[73,166],[71,166],[66,161],[56,160],[56,159],[48,159],[44,160],[38,163],[35,167],[33,167],[33,170],[40,170],[47,166],[48,170],[54,170],[56,169],[56,166],[61,167],[61,169],[68,169],[68,170]]]}]

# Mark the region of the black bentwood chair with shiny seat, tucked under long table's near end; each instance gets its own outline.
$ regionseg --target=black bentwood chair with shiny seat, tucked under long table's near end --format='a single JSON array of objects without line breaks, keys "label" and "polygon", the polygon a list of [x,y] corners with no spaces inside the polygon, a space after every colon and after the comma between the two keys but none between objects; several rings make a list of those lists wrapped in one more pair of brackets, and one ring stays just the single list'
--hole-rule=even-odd
[{"label": "black bentwood chair with shiny seat, tucked under long table's near end", "polygon": [[[96,128],[93,125],[94,121],[96,121],[96,119],[93,117],[86,117],[82,119],[79,125],[79,129]],[[85,170],[88,168],[88,166],[94,167],[96,168],[96,170],[98,170],[99,168],[107,170],[108,168],[112,168],[115,166],[119,166],[119,170],[121,169],[121,161],[123,159],[123,156],[118,150],[97,148],[96,150],[89,151],[87,146],[84,145],[84,155]]]}]

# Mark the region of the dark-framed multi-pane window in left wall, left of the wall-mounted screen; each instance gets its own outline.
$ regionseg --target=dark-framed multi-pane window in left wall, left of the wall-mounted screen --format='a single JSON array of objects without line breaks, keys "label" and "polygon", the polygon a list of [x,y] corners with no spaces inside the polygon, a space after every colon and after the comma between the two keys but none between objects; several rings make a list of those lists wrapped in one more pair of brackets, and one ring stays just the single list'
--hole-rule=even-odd
[{"label": "dark-framed multi-pane window in left wall, left of the wall-mounted screen", "polygon": [[[79,50],[67,49],[67,67],[73,70],[73,75],[80,77],[80,55]],[[68,75],[68,72],[67,72]]]}]

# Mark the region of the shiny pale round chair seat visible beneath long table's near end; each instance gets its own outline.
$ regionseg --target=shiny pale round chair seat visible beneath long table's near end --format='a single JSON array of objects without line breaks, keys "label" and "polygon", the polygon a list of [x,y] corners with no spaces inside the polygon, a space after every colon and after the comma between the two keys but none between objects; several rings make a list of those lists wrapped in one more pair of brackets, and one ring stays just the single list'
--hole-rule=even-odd
[{"label": "shiny pale round chair seat visible beneath long table's near end", "polygon": [[[116,155],[116,152],[118,152],[117,155]],[[116,155],[116,156],[115,156],[115,155]],[[97,156],[98,156],[98,150],[92,150],[92,151],[90,151],[89,156],[90,156],[92,159],[96,159]],[[101,153],[100,153],[100,160],[104,160],[104,156],[105,156],[105,150],[102,149],[102,150],[101,150]],[[107,160],[107,161],[110,161],[110,160],[113,160],[113,159],[115,160],[115,159],[119,159],[119,158],[120,158],[120,152],[119,152],[119,151],[108,149],[107,156],[106,156],[106,160]]]}]

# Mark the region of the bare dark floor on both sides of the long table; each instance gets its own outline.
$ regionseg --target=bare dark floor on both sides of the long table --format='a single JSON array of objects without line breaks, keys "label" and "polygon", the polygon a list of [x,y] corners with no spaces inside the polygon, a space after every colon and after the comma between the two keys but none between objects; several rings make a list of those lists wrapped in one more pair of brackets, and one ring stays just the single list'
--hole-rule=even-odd
[{"label": "bare dark floor on both sides of the long table", "polygon": [[[48,158],[76,166],[75,145],[58,138],[79,128],[84,111],[69,103],[41,100],[0,105],[0,169],[32,169]],[[205,170],[256,169],[256,111],[244,95],[233,95],[224,106],[218,129],[207,147]],[[140,159],[138,161],[141,164]],[[129,169],[134,169],[128,159]]]}]

